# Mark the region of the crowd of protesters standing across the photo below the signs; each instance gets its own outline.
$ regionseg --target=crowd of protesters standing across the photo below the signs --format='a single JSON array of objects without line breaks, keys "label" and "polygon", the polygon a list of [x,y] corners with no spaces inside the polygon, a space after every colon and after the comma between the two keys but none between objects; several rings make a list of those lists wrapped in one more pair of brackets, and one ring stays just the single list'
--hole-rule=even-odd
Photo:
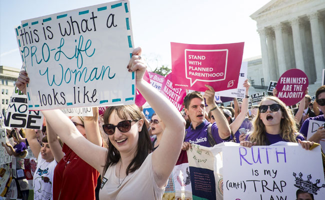
[{"label": "crowd of protesters standing across the photo below the signs", "polygon": [[[8,134],[16,144],[2,146],[17,163],[27,145],[37,158],[34,199],[161,199],[180,151],[192,143],[210,147],[232,141],[251,147],[287,141],[308,150],[325,138],[321,126],[306,140],[309,120],[325,121],[325,86],[317,89],[314,102],[306,94],[295,110],[275,96],[264,97],[248,110],[247,80],[242,102],[234,98],[225,107],[217,105],[214,89],[205,85],[204,95],[194,91],[184,97],[184,111],[179,112],[143,80],[147,65],[140,53],[140,48],[133,50],[127,70],[136,71],[136,87],[155,111],[150,121],[136,105],[107,107],[101,127],[96,107],[91,117],[42,110],[46,130],[20,129],[18,134],[13,129]],[[26,93],[28,82],[28,74],[21,71],[16,86]],[[19,198],[27,199],[24,184],[19,184],[24,180],[15,181]]]}]

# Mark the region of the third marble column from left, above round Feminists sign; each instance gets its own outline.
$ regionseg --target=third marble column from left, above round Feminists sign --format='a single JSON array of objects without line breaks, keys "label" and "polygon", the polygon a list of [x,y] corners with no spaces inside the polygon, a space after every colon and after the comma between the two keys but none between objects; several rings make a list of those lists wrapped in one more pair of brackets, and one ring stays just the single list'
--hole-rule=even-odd
[{"label": "third marble column from left, above round Feminists sign", "polygon": [[294,47],[294,59],[295,59],[295,67],[305,71],[304,62],[303,62],[303,54],[302,54],[302,45],[300,38],[300,28],[299,28],[299,18],[294,18],[290,20],[291,28],[292,28],[292,36],[293,36],[293,47]]}]

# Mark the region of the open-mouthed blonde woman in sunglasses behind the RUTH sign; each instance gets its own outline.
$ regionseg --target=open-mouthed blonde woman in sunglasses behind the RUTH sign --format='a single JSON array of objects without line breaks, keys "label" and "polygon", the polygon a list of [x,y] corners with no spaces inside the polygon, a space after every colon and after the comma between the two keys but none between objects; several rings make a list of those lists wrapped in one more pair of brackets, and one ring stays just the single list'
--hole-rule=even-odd
[{"label": "open-mouthed blonde woman in sunglasses behind the RUTH sign", "polygon": [[313,142],[304,141],[298,133],[295,120],[286,105],[275,96],[264,97],[253,119],[253,131],[247,135],[243,146],[270,145],[278,141],[299,142],[305,149]]}]

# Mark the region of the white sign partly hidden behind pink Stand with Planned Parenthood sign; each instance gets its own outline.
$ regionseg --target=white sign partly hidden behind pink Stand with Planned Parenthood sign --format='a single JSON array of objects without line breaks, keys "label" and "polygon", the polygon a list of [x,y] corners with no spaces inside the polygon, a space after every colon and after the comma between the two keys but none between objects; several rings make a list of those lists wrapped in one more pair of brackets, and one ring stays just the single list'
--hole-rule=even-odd
[{"label": "white sign partly hidden behind pink Stand with Planned Parenthood sign", "polygon": [[245,92],[246,92],[246,87],[244,87],[242,84],[247,79],[247,63],[248,62],[241,63],[237,88],[227,89],[227,90],[223,90],[223,91],[217,91],[217,92],[215,92],[215,95],[235,97],[235,98],[244,98]]}]

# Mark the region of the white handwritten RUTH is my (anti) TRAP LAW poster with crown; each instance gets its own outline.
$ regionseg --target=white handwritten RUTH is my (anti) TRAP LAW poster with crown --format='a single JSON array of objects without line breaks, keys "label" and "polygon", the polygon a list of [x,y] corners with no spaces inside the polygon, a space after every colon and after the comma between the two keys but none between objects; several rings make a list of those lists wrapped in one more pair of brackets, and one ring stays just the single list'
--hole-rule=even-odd
[{"label": "white handwritten RUTH is my (anti) TRAP LAW poster with crown", "polygon": [[224,199],[296,199],[298,189],[325,196],[320,146],[305,150],[297,143],[224,146]]}]

